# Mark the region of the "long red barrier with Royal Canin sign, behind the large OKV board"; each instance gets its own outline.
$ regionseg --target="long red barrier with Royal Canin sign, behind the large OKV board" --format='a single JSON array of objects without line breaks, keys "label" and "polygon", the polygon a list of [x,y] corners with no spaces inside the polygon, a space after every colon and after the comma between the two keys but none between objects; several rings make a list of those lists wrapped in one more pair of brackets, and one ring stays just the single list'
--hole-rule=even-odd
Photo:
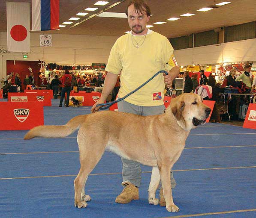
[{"label": "long red barrier with Royal Canin sign, behind the large OKV board", "polygon": [[51,106],[51,96],[49,93],[20,93],[20,92],[9,92],[8,101],[10,102],[42,102],[43,106]]}]

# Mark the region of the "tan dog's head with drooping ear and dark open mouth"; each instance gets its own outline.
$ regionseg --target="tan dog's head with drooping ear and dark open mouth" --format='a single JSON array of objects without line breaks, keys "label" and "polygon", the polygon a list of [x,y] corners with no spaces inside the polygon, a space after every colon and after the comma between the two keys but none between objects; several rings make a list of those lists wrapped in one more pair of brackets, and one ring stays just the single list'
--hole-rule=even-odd
[{"label": "tan dog's head with drooping ear and dark open mouth", "polygon": [[202,103],[202,98],[193,93],[184,93],[172,99],[170,110],[184,130],[205,124],[211,112],[211,109]]}]

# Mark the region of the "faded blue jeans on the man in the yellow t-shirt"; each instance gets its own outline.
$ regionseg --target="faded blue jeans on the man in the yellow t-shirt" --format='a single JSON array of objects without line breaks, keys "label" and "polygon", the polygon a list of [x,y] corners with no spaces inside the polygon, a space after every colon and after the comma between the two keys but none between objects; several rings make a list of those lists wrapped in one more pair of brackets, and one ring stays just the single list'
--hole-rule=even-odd
[{"label": "faded blue jeans on the man in the yellow t-shirt", "polygon": [[[136,115],[142,116],[150,116],[150,115],[160,115],[164,113],[165,106],[138,106],[131,103],[128,103],[124,100],[117,103],[119,112],[132,113]],[[123,182],[130,182],[133,185],[139,187],[141,183],[141,174],[142,169],[140,164],[133,160],[127,160],[121,157],[123,162],[123,170],[122,177]],[[172,189],[175,187],[176,183],[171,173],[171,184]]]}]

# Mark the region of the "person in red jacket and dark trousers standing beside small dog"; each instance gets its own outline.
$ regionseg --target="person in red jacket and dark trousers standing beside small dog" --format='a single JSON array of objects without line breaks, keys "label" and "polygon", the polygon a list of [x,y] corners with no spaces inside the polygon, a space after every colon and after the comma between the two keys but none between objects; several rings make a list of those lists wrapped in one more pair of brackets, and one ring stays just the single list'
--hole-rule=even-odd
[{"label": "person in red jacket and dark trousers standing beside small dog", "polygon": [[69,74],[69,71],[66,70],[65,74],[61,77],[61,84],[62,84],[62,90],[60,94],[60,105],[59,107],[62,107],[63,99],[65,97],[66,93],[66,100],[65,100],[65,107],[69,106],[69,94],[71,91],[71,80],[72,80],[72,75]]}]

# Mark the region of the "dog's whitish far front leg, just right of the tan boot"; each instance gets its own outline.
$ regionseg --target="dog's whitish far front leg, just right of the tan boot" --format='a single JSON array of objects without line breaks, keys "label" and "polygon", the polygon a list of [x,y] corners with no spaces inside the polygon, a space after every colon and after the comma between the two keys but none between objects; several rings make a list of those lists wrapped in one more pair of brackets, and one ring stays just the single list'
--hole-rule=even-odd
[{"label": "dog's whitish far front leg, just right of the tan boot", "polygon": [[153,167],[152,174],[151,174],[151,180],[150,180],[149,187],[148,187],[148,202],[149,202],[149,204],[157,205],[159,203],[158,198],[155,198],[157,187],[159,186],[159,183],[160,183],[160,174],[159,174],[158,167]]}]

